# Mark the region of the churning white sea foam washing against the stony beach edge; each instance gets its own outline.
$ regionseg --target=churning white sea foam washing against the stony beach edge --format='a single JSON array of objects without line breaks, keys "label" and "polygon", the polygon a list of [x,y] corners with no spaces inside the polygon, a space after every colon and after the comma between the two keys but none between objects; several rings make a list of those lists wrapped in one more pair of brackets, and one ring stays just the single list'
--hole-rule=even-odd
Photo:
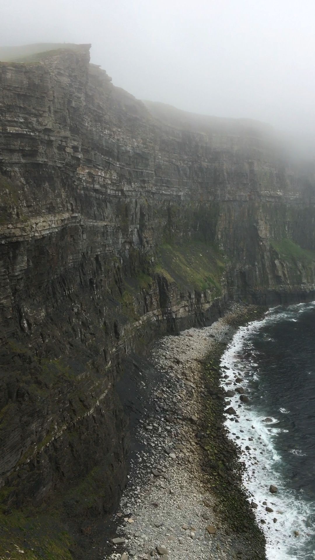
[{"label": "churning white sea foam washing against the stony beach edge", "polygon": [[[308,304],[309,305],[309,304]],[[315,305],[315,302],[312,304]],[[306,304],[298,304],[289,307],[286,310],[274,308],[270,310],[265,319],[262,321],[253,321],[247,326],[241,327],[234,335],[232,342],[226,349],[221,358],[221,367],[224,367],[224,375],[226,379],[221,379],[221,385],[225,389],[233,388],[235,377],[242,376],[239,385],[247,391],[251,390],[249,382],[253,379],[253,370],[257,369],[256,362],[251,362],[248,358],[242,357],[244,346],[250,347],[249,337],[254,332],[258,332],[267,321],[275,322],[279,320],[291,320],[292,315],[298,310],[305,311]],[[229,430],[229,437],[241,449],[240,461],[243,461],[247,467],[243,475],[245,488],[251,494],[249,501],[258,504],[257,510],[253,510],[256,514],[257,521],[265,520],[266,524],[261,525],[266,536],[266,552],[268,560],[305,560],[305,554],[302,552],[303,543],[309,539],[310,532],[314,528],[309,529],[311,522],[309,520],[312,514],[308,502],[303,501],[293,490],[285,487],[283,475],[281,476],[281,456],[275,447],[275,438],[282,431],[277,428],[279,420],[272,418],[272,422],[263,422],[266,418],[261,412],[255,410],[250,404],[242,404],[238,407],[239,394],[235,394],[231,400],[231,406],[237,410],[238,423],[234,421],[234,417],[226,418],[226,427]],[[289,411],[280,409],[283,414]],[[249,439],[251,438],[251,439]],[[250,449],[246,450],[245,447]],[[299,450],[293,450],[299,451]],[[293,452],[292,451],[292,452]],[[274,484],[278,488],[276,494],[269,492],[269,487]],[[266,512],[265,505],[271,507],[274,512]],[[274,523],[276,518],[276,523]],[[312,531],[313,530],[313,531]],[[299,536],[294,537],[294,531],[299,531]]]}]

